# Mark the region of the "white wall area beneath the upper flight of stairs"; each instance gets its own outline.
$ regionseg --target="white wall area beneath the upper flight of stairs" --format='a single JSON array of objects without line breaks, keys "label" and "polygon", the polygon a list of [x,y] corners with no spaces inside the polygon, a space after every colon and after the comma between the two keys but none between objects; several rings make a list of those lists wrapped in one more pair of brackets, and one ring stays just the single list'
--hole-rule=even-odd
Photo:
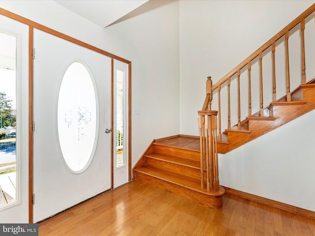
[{"label": "white wall area beneath the upper flight of stairs", "polygon": [[315,110],[220,154],[220,184],[315,211],[314,119]]}]

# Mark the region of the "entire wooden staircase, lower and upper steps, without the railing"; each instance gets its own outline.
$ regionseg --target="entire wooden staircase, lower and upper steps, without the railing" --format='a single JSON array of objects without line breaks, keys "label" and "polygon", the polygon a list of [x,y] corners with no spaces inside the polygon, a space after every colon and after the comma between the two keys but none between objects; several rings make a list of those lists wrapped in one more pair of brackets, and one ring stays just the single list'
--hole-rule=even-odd
[{"label": "entire wooden staircase, lower and upper steps, without the railing", "polygon": [[[271,102],[263,111],[226,129],[218,141],[218,153],[226,153],[253,139],[315,109],[315,79],[300,85],[285,97]],[[224,140],[224,141],[223,141]],[[133,168],[133,180],[139,180],[192,200],[207,207],[222,206],[225,192],[207,191],[200,184],[200,139],[196,136],[176,135],[154,140]],[[204,176],[206,170],[204,169]],[[206,185],[206,179],[204,180]]]}]

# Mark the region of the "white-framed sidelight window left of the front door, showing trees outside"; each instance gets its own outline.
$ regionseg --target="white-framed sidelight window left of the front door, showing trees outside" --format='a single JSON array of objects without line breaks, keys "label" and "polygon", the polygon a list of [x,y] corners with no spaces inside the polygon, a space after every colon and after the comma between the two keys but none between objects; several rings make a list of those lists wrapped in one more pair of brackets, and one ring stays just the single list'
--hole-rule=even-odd
[{"label": "white-framed sidelight window left of the front door, showing trees outside", "polygon": [[1,223],[29,222],[28,35],[28,26],[0,16]]}]

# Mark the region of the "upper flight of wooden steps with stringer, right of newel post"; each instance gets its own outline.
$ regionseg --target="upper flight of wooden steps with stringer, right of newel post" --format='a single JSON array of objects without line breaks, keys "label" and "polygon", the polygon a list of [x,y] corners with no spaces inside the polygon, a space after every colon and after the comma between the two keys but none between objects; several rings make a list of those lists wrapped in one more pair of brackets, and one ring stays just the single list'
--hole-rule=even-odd
[{"label": "upper flight of wooden steps with stringer, right of newel post", "polygon": [[285,97],[276,102],[271,102],[263,111],[264,117],[259,117],[259,112],[252,117],[247,117],[237,125],[226,129],[218,141],[218,152],[226,153],[238,148],[253,139],[315,109],[315,79],[308,84],[300,85],[291,93],[291,101]]}]

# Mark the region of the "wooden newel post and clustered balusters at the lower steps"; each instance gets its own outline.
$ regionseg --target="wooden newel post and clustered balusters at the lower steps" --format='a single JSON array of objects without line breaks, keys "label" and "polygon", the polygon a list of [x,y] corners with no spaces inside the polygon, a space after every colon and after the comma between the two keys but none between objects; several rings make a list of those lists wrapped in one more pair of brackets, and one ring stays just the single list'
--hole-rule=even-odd
[{"label": "wooden newel post and clustered balusters at the lower steps", "polygon": [[[212,81],[207,80],[207,96],[202,110],[198,111],[200,129],[200,172],[201,187],[208,191],[219,191],[219,167],[217,151],[217,111],[211,111]],[[206,179],[204,171],[206,170]]]}]

